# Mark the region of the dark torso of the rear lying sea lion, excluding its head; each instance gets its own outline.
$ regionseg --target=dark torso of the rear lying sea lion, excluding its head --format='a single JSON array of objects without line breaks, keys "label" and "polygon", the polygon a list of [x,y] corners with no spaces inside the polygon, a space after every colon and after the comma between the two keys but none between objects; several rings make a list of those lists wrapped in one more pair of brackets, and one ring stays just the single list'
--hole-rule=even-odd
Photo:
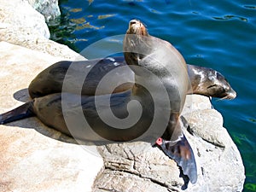
[{"label": "dark torso of the rear lying sea lion, excluding its head", "polygon": [[[120,81],[127,82],[118,86],[114,92],[122,92],[132,88],[133,84],[128,82],[134,81],[134,73],[129,67],[126,67],[124,57],[107,57],[104,59],[93,59],[87,61],[59,61],[50,67],[44,69],[38,76],[32,80],[29,84],[28,91],[32,98],[39,96],[47,96],[52,93],[60,93],[62,91],[63,81],[73,81],[73,77],[66,76],[67,70],[70,66],[73,66],[72,74],[74,76],[80,76],[80,79],[84,79],[84,74],[88,73],[82,90],[79,90],[79,94],[86,96],[96,95],[96,87],[102,78],[113,69],[120,68],[118,73],[114,73],[112,79],[109,79],[109,84],[119,84]],[[84,67],[83,67],[84,66]],[[121,68],[122,67],[122,68]],[[71,72],[69,72],[71,74]],[[67,87],[67,92],[77,93],[77,90],[73,84]],[[99,95],[111,94],[112,90],[108,87],[102,88]]]}]

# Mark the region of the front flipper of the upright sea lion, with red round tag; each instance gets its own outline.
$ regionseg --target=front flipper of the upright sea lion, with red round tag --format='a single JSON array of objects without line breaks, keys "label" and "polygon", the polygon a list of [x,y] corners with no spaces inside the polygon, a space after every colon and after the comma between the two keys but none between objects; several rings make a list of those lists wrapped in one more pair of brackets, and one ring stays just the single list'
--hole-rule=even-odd
[{"label": "front flipper of the upright sea lion, with red round tag", "polygon": [[183,170],[183,174],[187,175],[191,183],[197,181],[197,169],[195,156],[189,145],[187,138],[183,135],[178,142],[166,141],[158,138],[156,144],[164,151],[164,153],[172,160],[177,162]]}]

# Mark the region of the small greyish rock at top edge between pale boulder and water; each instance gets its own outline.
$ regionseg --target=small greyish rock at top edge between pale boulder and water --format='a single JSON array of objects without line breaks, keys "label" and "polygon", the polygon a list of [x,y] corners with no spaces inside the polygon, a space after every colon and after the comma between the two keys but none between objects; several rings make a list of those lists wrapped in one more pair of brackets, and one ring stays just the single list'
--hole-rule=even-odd
[{"label": "small greyish rock at top edge between pale boulder and water", "polygon": [[55,20],[61,15],[58,0],[28,0],[34,9],[44,15],[45,20]]}]

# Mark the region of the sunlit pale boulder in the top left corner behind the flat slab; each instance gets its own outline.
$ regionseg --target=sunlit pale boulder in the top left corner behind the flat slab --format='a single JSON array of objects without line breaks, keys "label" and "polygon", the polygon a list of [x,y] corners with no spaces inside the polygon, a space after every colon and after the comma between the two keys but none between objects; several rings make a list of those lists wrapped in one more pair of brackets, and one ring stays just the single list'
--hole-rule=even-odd
[{"label": "sunlit pale boulder in the top left corner behind the flat slab", "polygon": [[40,50],[49,55],[74,60],[79,54],[66,45],[49,40],[49,29],[44,16],[27,1],[0,0],[0,41]]}]

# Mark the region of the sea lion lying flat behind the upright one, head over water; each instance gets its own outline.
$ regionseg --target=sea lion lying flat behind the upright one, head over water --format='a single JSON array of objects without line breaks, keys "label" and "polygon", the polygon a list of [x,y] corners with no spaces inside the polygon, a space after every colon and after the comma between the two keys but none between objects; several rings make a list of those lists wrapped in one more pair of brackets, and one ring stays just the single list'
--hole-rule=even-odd
[{"label": "sea lion lying flat behind the upright one, head over water", "polygon": [[[109,84],[119,84],[119,82],[127,83],[120,84],[115,90],[104,87],[97,94],[104,95],[111,94],[112,92],[122,92],[131,89],[133,86],[131,82],[134,81],[134,73],[131,68],[125,67],[127,64],[124,57],[107,57],[88,61],[59,61],[44,69],[32,80],[28,87],[29,95],[35,98],[60,93],[62,91],[63,80],[69,78],[66,76],[66,73],[71,65],[85,66],[83,68],[76,67],[79,70],[73,72],[74,75],[81,76],[81,79],[86,72],[88,73],[90,71],[86,79],[84,79],[84,84],[82,90],[79,90],[79,94],[94,96],[96,94],[96,87],[102,78],[118,67],[122,67],[122,70],[119,70],[118,73],[114,73],[110,77]],[[191,88],[187,94],[199,94],[222,99],[234,99],[236,97],[236,91],[231,88],[229,82],[221,73],[207,67],[198,67],[189,64],[187,64],[187,67],[191,84]],[[76,89],[73,86],[67,92],[75,93],[74,90]]]}]

